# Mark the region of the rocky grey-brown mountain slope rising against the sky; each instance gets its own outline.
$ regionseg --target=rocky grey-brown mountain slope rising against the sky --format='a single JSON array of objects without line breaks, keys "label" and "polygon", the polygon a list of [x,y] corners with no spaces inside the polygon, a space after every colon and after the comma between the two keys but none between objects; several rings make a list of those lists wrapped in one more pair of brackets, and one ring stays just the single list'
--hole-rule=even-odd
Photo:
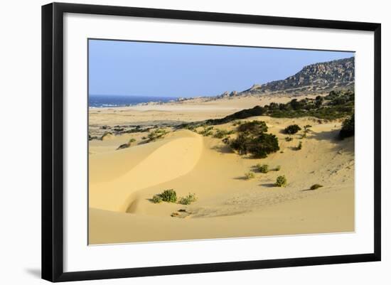
[{"label": "rocky grey-brown mountain slope rising against the sky", "polygon": [[331,90],[354,89],[354,57],[326,63],[306,65],[295,75],[284,80],[253,85],[242,92],[224,92],[218,97],[264,94],[309,94],[330,92]]}]

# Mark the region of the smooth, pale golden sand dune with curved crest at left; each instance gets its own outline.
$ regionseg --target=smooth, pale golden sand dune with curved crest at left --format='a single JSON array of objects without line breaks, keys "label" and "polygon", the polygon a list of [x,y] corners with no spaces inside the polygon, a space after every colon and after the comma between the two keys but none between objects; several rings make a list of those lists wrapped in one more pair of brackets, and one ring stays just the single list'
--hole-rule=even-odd
[{"label": "smooth, pale golden sand dune with curved crest at left", "polygon": [[183,130],[161,141],[92,156],[90,207],[124,212],[136,190],[191,171],[202,149],[202,137]]}]

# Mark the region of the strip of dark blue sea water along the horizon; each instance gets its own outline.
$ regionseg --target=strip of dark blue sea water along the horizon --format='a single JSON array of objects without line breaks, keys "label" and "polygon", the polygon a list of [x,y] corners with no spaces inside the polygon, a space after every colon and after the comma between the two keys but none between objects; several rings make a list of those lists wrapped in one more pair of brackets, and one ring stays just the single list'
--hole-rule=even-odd
[{"label": "strip of dark blue sea water along the horizon", "polygon": [[127,107],[147,102],[168,102],[177,97],[151,97],[151,96],[126,96],[126,95],[90,95],[89,107]]}]

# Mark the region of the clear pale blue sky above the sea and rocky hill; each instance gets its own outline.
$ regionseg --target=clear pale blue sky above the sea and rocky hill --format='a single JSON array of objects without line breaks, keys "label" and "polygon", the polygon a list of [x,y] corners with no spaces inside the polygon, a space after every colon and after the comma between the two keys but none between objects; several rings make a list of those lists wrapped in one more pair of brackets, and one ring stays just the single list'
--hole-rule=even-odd
[{"label": "clear pale blue sky above the sea and rocky hill", "polygon": [[354,53],[90,40],[90,95],[195,97],[285,79]]}]

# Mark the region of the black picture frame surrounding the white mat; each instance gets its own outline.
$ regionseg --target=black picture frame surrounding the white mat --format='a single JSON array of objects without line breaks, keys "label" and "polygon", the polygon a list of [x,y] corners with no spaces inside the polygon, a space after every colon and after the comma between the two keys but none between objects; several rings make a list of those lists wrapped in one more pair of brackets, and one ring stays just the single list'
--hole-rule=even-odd
[{"label": "black picture frame surrounding the white mat", "polygon": [[[375,183],[374,244],[367,254],[304,257],[246,262],[186,264],[164,267],[140,267],[96,271],[63,270],[63,15],[100,14],[178,20],[252,23],[274,26],[333,28],[374,32],[374,106],[375,106]],[[42,6],[42,278],[48,281],[113,279],[135,276],[188,274],[210,271],[299,267],[320,264],[380,261],[380,176],[381,176],[381,25],[351,21],[326,21],[309,18],[284,18],[200,11],[175,11],[122,6],[53,3]]]}]

